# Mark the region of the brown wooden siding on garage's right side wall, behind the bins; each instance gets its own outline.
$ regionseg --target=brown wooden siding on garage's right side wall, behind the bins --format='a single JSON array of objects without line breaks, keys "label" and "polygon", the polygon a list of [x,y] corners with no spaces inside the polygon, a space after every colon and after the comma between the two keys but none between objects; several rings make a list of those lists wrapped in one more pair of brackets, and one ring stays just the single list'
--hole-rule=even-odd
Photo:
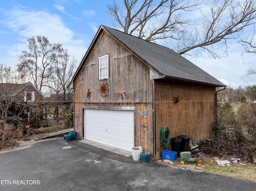
[{"label": "brown wooden siding on garage's right side wall, behind the bins", "polygon": [[[195,141],[212,135],[215,88],[171,81],[155,83],[156,156],[161,155],[160,129],[167,126],[170,138],[187,135]],[[179,102],[174,103],[174,96]]]}]

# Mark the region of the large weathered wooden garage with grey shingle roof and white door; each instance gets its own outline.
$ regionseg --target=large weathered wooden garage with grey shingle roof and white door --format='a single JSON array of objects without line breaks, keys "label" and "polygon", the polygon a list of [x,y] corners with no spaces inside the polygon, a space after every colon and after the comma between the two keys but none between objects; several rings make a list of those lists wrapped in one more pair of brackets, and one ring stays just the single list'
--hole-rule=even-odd
[{"label": "large weathered wooden garage with grey shingle roof and white door", "polygon": [[174,52],[100,26],[71,83],[78,138],[161,156],[160,130],[212,135],[220,81]]}]

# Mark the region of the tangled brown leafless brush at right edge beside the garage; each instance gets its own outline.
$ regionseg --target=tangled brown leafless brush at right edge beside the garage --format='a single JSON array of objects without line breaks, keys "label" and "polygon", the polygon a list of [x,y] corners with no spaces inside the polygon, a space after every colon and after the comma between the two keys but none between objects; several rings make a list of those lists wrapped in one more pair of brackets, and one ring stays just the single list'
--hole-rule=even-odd
[{"label": "tangled brown leafless brush at right edge beside the garage", "polygon": [[[254,110],[255,109],[255,110]],[[256,105],[243,103],[235,113],[229,103],[218,106],[218,122],[212,124],[214,136],[204,142],[212,155],[223,155],[253,161],[256,155]]]}]

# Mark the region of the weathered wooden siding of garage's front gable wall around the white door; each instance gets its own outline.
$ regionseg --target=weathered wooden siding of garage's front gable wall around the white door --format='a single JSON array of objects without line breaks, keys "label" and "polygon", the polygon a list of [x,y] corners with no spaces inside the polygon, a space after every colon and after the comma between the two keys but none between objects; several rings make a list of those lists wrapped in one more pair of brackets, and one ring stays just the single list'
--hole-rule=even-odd
[{"label": "weathered wooden siding of garage's front gable wall around the white door", "polygon": [[[109,55],[108,95],[99,93],[98,57]],[[90,98],[86,92],[91,92]],[[124,93],[125,98],[119,93]],[[102,32],[90,49],[80,71],[74,79],[74,128],[77,136],[84,138],[84,108],[122,110],[122,106],[134,106],[135,146],[154,153],[153,148],[153,81],[150,68],[134,56],[128,49]],[[138,110],[148,110],[146,119],[141,119]]]}]

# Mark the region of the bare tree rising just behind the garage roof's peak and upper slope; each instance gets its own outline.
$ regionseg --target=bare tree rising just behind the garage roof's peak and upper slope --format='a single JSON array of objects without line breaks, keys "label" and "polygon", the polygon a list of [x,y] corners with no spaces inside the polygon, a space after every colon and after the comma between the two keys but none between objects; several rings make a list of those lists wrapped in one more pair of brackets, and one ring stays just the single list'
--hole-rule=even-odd
[{"label": "bare tree rising just behind the garage roof's peak and upper slope", "polygon": [[[182,33],[180,26],[189,23],[180,11],[192,11],[198,6],[198,0],[174,1],[169,0],[124,0],[121,5],[108,4],[108,14],[112,16],[118,26],[125,33],[135,34],[148,41],[174,37],[175,33]],[[115,25],[116,26],[116,25]],[[119,28],[116,26],[116,28]]]}]

